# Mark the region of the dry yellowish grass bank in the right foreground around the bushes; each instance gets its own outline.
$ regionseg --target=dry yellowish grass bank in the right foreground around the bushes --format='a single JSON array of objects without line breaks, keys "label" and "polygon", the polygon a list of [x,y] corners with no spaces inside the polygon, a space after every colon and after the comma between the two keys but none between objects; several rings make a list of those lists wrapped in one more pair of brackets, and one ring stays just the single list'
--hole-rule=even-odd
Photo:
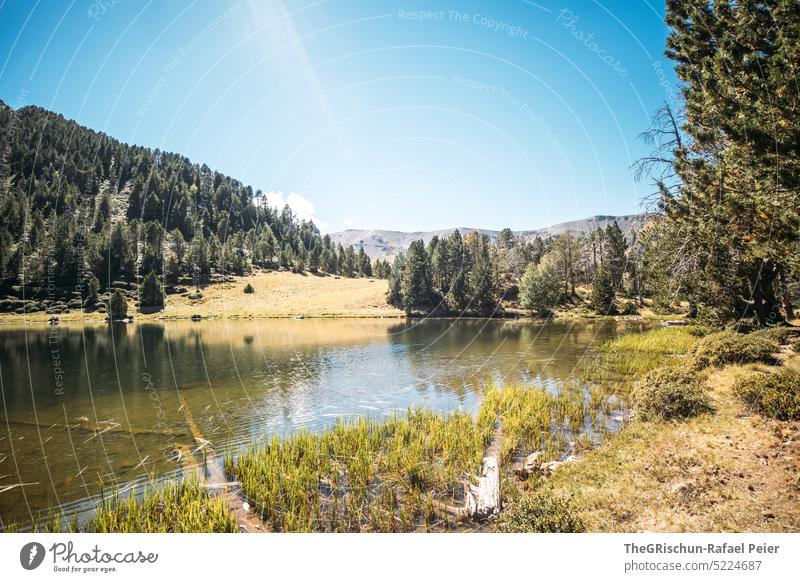
[{"label": "dry yellowish grass bank in the right foreground around the bushes", "polygon": [[732,386],[754,368],[709,377],[715,414],[633,421],[547,486],[574,496],[589,531],[800,531],[800,423],[744,409]]}]

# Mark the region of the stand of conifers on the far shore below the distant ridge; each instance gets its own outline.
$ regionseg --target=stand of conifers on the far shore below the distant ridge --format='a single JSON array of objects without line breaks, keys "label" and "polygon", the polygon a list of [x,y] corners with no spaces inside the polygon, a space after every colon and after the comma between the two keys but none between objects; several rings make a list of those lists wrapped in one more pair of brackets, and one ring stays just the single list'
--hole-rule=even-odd
[{"label": "stand of conifers on the far shore below the distant ridge", "polygon": [[521,306],[546,315],[559,304],[578,304],[580,285],[591,285],[591,305],[614,313],[618,295],[641,301],[641,248],[616,222],[590,233],[529,240],[510,229],[492,241],[455,230],[426,245],[413,241],[389,273],[389,302],[407,312],[495,315]]}]

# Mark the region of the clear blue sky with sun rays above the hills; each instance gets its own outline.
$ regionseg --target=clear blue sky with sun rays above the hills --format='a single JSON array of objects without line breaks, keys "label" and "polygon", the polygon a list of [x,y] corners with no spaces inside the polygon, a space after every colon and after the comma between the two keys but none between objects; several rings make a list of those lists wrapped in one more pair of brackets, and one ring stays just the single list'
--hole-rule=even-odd
[{"label": "clear blue sky with sun rays above the hills", "polygon": [[182,153],[323,231],[642,210],[660,0],[0,0],[0,99]]}]

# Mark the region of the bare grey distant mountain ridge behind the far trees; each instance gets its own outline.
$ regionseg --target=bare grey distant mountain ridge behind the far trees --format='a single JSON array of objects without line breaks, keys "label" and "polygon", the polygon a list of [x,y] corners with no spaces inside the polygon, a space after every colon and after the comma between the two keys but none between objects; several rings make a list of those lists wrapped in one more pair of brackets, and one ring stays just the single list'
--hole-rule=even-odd
[{"label": "bare grey distant mountain ridge behind the far trees", "polygon": [[[650,214],[628,214],[625,216],[609,216],[597,215],[581,220],[571,220],[569,222],[562,222],[554,224],[546,228],[539,228],[535,230],[521,230],[515,231],[514,234],[522,236],[526,239],[533,239],[536,236],[555,236],[571,232],[574,234],[587,233],[595,230],[596,228],[605,228],[612,222],[616,222],[626,238],[639,230],[650,220]],[[402,232],[396,230],[356,230],[348,229],[340,232],[334,232],[330,235],[333,243],[341,243],[343,247],[349,245],[354,246],[356,249],[359,247],[364,249],[371,259],[391,259],[397,253],[408,248],[411,241],[422,239],[427,244],[434,236],[443,237],[451,234],[454,230],[458,230],[462,235],[470,231],[477,231],[481,234],[489,236],[492,240],[498,237],[499,230],[486,230],[482,228],[467,228],[458,226],[455,228],[447,228],[443,230],[428,230],[418,232]]]}]

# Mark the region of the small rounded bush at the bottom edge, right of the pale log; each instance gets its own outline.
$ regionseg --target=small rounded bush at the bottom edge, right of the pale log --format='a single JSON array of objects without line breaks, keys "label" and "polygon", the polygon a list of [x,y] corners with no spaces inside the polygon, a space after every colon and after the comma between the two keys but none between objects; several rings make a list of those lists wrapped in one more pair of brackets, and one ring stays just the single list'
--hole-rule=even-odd
[{"label": "small rounded bush at the bottom edge, right of the pale log", "polygon": [[569,499],[548,493],[527,495],[504,510],[496,523],[503,533],[578,533],[586,531]]}]

